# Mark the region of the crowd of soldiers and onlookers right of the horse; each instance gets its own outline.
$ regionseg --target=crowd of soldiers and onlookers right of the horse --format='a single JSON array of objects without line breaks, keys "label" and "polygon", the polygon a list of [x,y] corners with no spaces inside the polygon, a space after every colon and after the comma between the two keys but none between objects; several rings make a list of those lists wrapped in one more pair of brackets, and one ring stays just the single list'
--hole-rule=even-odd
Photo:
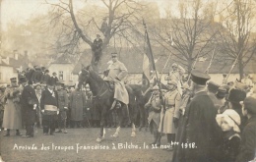
[{"label": "crowd of soldiers and onlookers right of the horse", "polygon": [[169,146],[163,149],[173,151],[173,162],[255,160],[255,82],[249,75],[226,81],[224,74],[223,84],[218,84],[197,70],[191,72],[191,81],[184,81],[182,72],[173,64],[165,78],[167,89],[152,87],[145,105],[154,135],[151,144],[160,146],[166,135]]}]

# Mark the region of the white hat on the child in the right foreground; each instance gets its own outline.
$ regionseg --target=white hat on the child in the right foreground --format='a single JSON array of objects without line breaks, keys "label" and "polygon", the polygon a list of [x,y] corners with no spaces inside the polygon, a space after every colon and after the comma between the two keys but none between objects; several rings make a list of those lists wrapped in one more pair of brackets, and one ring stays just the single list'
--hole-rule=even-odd
[{"label": "white hat on the child in the right foreground", "polygon": [[234,132],[240,133],[239,126],[241,124],[241,118],[236,111],[233,109],[226,109],[223,114],[218,114],[216,116],[216,121],[220,127],[222,125],[222,118],[224,118],[229,127],[233,128]]}]

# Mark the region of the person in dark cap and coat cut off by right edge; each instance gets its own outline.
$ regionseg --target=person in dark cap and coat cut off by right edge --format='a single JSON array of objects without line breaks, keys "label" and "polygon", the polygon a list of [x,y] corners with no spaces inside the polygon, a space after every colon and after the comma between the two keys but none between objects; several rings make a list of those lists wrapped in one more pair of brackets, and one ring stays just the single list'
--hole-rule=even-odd
[{"label": "person in dark cap and coat cut off by right edge", "polygon": [[248,118],[241,135],[241,149],[235,162],[255,161],[256,150],[256,99],[246,97],[242,104],[242,113]]}]

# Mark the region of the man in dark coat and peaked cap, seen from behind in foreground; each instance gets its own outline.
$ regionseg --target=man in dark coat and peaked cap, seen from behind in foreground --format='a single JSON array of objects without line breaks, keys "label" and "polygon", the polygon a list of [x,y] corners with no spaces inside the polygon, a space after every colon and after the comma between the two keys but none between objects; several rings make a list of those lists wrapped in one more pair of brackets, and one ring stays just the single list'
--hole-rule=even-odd
[{"label": "man in dark coat and peaked cap, seen from behind in foreground", "polygon": [[[217,109],[205,90],[206,82],[210,79],[209,75],[200,71],[191,72],[194,97],[185,110],[185,121],[181,126],[185,128],[173,153],[173,162],[215,161],[214,151],[217,148],[221,130],[216,122]],[[182,143],[194,144],[194,148],[184,149]]]}]

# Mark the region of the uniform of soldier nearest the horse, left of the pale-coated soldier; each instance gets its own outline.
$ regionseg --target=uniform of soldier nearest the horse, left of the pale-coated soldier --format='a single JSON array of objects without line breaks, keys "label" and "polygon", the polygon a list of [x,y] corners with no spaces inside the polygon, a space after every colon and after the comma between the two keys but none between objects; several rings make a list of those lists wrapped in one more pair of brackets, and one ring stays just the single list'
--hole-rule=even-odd
[{"label": "uniform of soldier nearest the horse, left of the pale-coated soldier", "polygon": [[[153,89],[158,90],[158,87],[153,87]],[[160,145],[160,94],[155,93],[150,98],[149,102],[145,104],[145,108],[149,110],[148,122],[151,132],[154,134],[154,142],[152,144]]]}]

